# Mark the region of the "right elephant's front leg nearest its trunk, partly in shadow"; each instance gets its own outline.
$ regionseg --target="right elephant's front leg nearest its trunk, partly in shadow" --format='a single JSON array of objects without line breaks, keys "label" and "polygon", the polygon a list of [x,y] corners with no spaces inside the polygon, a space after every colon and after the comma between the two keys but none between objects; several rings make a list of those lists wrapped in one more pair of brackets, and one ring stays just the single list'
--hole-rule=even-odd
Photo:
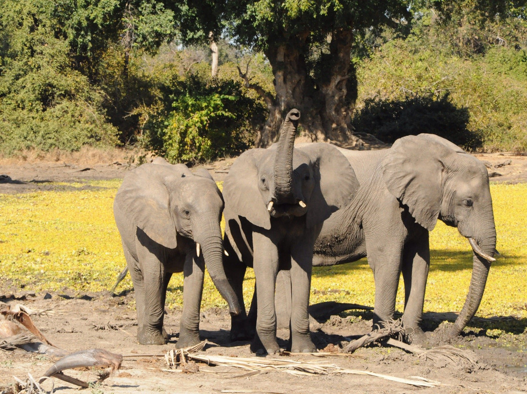
[{"label": "right elephant's front leg nearest its trunk, partly in shadow", "polygon": [[423,317],[429,268],[430,247],[428,245],[428,231],[425,231],[419,239],[406,245],[402,268],[405,288],[403,325],[411,334],[412,340],[418,342],[426,339],[420,324]]}]

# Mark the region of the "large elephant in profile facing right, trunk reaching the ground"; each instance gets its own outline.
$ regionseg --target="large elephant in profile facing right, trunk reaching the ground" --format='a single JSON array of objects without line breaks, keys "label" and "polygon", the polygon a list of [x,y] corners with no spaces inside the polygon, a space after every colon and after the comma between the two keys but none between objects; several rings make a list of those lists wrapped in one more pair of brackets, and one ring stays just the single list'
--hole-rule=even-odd
[{"label": "large elephant in profile facing right, trunk reaching the ground", "polygon": [[375,321],[393,318],[399,274],[405,284],[404,327],[424,340],[422,319],[430,265],[428,232],[437,219],[457,227],[473,248],[469,293],[450,336],[461,333],[480,305],[496,246],[483,163],[432,134],[406,136],[390,149],[349,151],[360,188],[346,208],[324,222],[313,265],[367,257],[375,279]]}]

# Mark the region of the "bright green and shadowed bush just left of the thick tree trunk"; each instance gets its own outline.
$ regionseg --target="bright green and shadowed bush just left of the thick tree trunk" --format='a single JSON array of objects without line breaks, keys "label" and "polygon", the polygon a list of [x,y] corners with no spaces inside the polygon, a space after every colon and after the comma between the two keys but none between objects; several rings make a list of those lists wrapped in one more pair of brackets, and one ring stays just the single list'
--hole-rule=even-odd
[{"label": "bright green and shadowed bush just left of the thick tree trunk", "polygon": [[172,96],[172,111],[159,131],[161,151],[169,161],[185,163],[239,154],[252,143],[251,116],[261,112],[240,84],[189,76]]}]

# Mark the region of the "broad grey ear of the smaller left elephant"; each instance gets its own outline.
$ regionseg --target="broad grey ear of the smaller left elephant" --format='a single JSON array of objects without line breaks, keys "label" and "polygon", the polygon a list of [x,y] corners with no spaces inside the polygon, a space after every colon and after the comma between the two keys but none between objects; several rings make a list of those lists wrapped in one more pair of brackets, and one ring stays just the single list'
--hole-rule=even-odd
[{"label": "broad grey ear of the smaller left elephant", "polygon": [[167,248],[177,246],[174,220],[170,213],[167,184],[192,176],[184,164],[143,164],[125,175],[115,196],[115,204],[130,215],[132,222]]}]

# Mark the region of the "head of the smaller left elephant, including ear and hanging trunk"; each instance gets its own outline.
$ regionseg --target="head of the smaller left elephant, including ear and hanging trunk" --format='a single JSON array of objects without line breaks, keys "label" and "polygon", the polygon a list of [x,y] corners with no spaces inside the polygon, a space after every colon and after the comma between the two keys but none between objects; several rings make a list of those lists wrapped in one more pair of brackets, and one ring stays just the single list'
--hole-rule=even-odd
[{"label": "head of the smaller left elephant, including ear and hanging trunk", "polygon": [[164,160],[143,164],[126,174],[114,204],[165,248],[178,248],[183,238],[192,240],[198,257],[203,254],[214,285],[229,303],[230,312],[239,313],[222,263],[223,199],[207,172],[192,173],[184,164],[171,165]]}]

